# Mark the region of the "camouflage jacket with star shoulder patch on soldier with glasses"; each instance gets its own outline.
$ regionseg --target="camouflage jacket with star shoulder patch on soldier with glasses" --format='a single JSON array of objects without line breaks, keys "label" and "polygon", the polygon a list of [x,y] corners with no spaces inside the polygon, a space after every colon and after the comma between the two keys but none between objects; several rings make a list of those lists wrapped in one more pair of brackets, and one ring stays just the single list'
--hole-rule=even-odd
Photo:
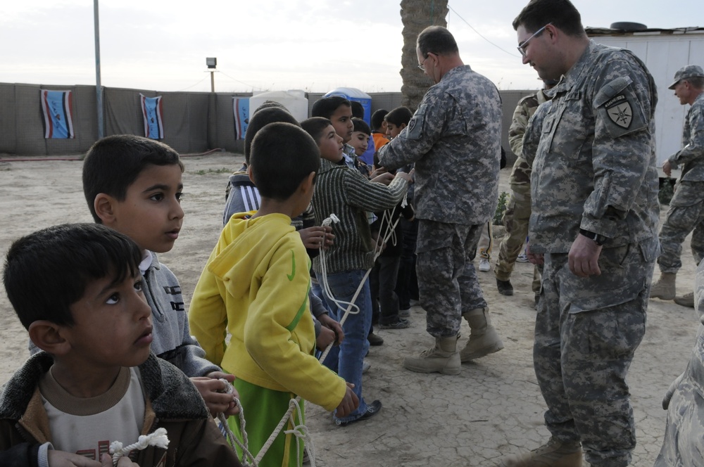
[{"label": "camouflage jacket with star shoulder patch on soldier with glasses", "polygon": [[630,51],[593,41],[554,88],[531,179],[532,252],[569,252],[579,229],[604,248],[657,235],[657,91]]}]

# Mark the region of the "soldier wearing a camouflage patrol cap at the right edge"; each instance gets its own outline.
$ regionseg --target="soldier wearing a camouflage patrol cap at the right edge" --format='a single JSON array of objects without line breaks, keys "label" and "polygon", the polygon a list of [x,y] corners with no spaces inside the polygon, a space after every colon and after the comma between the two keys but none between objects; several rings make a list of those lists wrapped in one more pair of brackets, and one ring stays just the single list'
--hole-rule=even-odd
[{"label": "soldier wearing a camouflage patrol cap at the right edge", "polygon": [[669,89],[674,89],[679,103],[689,104],[691,108],[684,122],[684,148],[671,155],[662,165],[662,172],[668,177],[672,169],[679,165],[682,166],[682,174],[660,229],[660,279],[653,283],[650,298],[674,298],[678,305],[693,308],[693,292],[675,297],[675,279],[682,267],[682,242],[691,231],[694,260],[699,264],[704,257],[704,71],[698,65],[681,68],[674,74],[674,82]]}]

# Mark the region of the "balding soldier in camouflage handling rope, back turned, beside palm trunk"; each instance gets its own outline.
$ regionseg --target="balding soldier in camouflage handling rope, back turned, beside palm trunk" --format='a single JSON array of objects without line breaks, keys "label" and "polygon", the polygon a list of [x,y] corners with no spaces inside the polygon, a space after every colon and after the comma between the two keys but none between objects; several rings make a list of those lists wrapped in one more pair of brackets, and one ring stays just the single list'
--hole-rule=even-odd
[{"label": "balding soldier in camouflage handling rope, back turned, beside palm trunk", "polygon": [[[435,338],[433,347],[403,364],[412,371],[457,374],[460,362],[503,348],[472,263],[498,199],[501,97],[489,79],[463,64],[444,27],[419,34],[417,56],[436,84],[408,127],[379,150],[387,169],[415,162],[416,270],[427,331]],[[463,316],[470,340],[458,352]]]}]

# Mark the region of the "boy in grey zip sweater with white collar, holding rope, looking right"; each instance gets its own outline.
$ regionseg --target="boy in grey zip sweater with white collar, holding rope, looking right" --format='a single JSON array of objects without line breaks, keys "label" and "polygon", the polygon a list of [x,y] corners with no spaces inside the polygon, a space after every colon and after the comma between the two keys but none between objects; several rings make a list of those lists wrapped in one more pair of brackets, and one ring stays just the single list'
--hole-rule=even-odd
[{"label": "boy in grey zip sweater with white collar, holding rope, looking right", "polygon": [[220,378],[232,382],[234,376],[203,358],[205,352],[191,337],[181,286],[156,256],[173,248],[181,230],[183,169],[178,153],[163,143],[108,136],[86,155],[83,192],[97,223],[124,233],[142,249],[139,269],[154,316],[154,354],[191,378],[211,414],[233,415],[233,396],[218,391],[225,389]]}]

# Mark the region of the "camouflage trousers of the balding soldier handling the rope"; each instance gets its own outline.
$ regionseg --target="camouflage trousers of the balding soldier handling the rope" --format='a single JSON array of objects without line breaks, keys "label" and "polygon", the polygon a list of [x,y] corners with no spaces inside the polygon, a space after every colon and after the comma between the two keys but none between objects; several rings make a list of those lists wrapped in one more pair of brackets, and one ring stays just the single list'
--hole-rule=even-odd
[{"label": "camouflage trousers of the balding soldier handling the rope", "polygon": [[457,335],[464,312],[486,307],[473,262],[485,226],[418,219],[415,269],[433,337]]}]

